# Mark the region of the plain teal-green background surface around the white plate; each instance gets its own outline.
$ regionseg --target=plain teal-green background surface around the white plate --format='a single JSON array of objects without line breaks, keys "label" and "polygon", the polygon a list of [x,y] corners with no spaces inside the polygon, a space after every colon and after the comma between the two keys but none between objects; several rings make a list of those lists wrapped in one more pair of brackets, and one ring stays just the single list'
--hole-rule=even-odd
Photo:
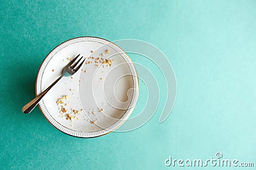
[{"label": "plain teal-green background surface around the white plate", "polygon": [[[0,169],[196,169],[166,167],[164,160],[209,159],[216,152],[225,159],[254,162],[244,169],[256,168],[256,1],[0,5]],[[35,97],[44,57],[78,36],[141,39],[165,53],[177,78],[170,117],[159,124],[157,109],[135,131],[81,139],[56,130],[38,107],[23,114],[22,106]],[[143,107],[141,88],[135,113]]]}]

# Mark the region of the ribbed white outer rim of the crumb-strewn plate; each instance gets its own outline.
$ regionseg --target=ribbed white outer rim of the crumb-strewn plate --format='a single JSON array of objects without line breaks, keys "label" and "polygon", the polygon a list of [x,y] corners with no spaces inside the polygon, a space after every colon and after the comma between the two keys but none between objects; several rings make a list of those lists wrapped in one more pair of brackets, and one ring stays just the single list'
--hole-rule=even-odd
[{"label": "ribbed white outer rim of the crumb-strewn plate", "polygon": [[[80,41],[79,41],[79,39],[80,39]],[[83,39],[84,39],[84,40],[83,40]],[[128,65],[129,65],[129,68],[131,69],[131,73],[132,73],[132,75],[133,75],[133,76],[132,76],[132,80],[133,80],[133,82],[134,82],[134,87],[136,87],[136,88],[133,87],[134,89],[136,89],[136,90],[134,90],[136,93],[135,93],[135,95],[133,95],[133,96],[135,96],[135,101],[138,101],[138,95],[139,95],[140,84],[139,84],[139,80],[138,80],[138,73],[137,73],[137,71],[136,71],[136,67],[134,66],[134,63],[132,62],[131,58],[129,57],[129,55],[127,55],[127,53],[126,53],[124,50],[122,50],[122,48],[120,48],[120,46],[116,45],[116,44],[113,43],[112,41],[109,41],[108,39],[104,39],[104,38],[95,37],[95,36],[80,36],[80,37],[76,37],[76,38],[71,38],[71,39],[68,39],[67,41],[64,41],[63,43],[60,43],[59,45],[55,46],[55,47],[51,50],[51,52],[49,52],[49,53],[45,56],[44,60],[43,60],[42,63],[40,64],[40,67],[39,67],[38,72],[37,72],[37,74],[36,74],[35,95],[38,96],[38,94],[40,94],[40,92],[42,92],[42,90],[41,90],[41,80],[42,80],[42,76],[43,76],[43,74],[44,74],[45,67],[47,66],[47,64],[48,64],[48,62],[51,60],[51,58],[56,54],[56,53],[53,53],[53,54],[52,54],[52,52],[54,52],[54,50],[56,50],[57,48],[60,48],[59,50],[61,50],[62,48],[65,48],[65,47],[68,46],[68,45],[72,45],[72,44],[74,44],[74,43],[83,42],[83,41],[86,41],[86,40],[88,41],[88,39],[100,39],[101,41],[106,41],[106,42],[108,42],[108,43],[110,43],[110,44],[113,44],[113,46],[116,46],[117,49],[120,50],[122,53],[124,53],[124,54],[125,54],[125,57],[127,57],[127,59],[129,59],[129,60],[131,61],[131,66],[132,66],[132,68],[134,69],[134,70],[133,70],[134,73],[132,73],[131,66],[130,66],[129,64],[128,64]],[[76,41],[76,40],[77,40],[77,41]],[[69,44],[67,44],[66,46],[63,46],[63,47],[61,48],[61,45],[65,44],[65,43],[68,43],[69,41],[70,41],[71,43],[69,43]],[[73,42],[72,42],[72,41],[73,41]],[[113,47],[113,46],[112,46],[112,47]],[[114,49],[115,49],[115,48],[114,48]],[[115,50],[117,50],[117,49],[115,49]],[[59,50],[58,50],[58,51],[59,51]],[[51,54],[52,54],[52,56],[50,56]],[[124,56],[122,55],[122,57],[124,57]],[[49,58],[50,58],[50,59],[49,59]],[[49,59],[49,60],[46,62],[47,59]],[[42,66],[43,66],[43,64],[44,64],[45,62],[46,62],[46,65],[44,66],[44,68],[42,68]],[[42,74],[40,75],[41,72],[42,72]],[[40,76],[40,77],[39,77],[39,76]],[[134,76],[136,76],[136,78],[134,78]],[[39,80],[40,80],[40,81],[39,81]],[[38,83],[38,82],[39,82],[39,83]],[[37,89],[37,87],[40,87],[40,88]],[[38,91],[38,90],[39,90],[39,91]],[[131,102],[131,103],[132,103],[132,102]],[[64,134],[67,134],[67,135],[69,135],[69,136],[74,136],[74,137],[77,137],[77,138],[97,138],[97,137],[99,137],[99,136],[104,136],[104,135],[106,135],[106,134],[109,134],[110,132],[115,131],[116,129],[118,129],[118,127],[120,127],[121,125],[123,125],[123,124],[125,123],[125,121],[130,117],[130,115],[131,115],[132,111],[134,110],[135,106],[136,106],[136,103],[134,104],[134,106],[133,106],[132,108],[128,108],[127,111],[125,111],[124,115],[122,115],[122,117],[121,117],[119,120],[117,120],[117,121],[115,122],[115,124],[110,125],[109,127],[107,127],[107,128],[106,128],[107,130],[106,130],[106,129],[102,129],[102,130],[100,130],[100,131],[95,131],[95,132],[97,132],[97,134],[96,134],[96,135],[92,135],[92,134],[95,134],[95,132],[78,132],[78,131],[74,131],[74,130],[72,130],[72,129],[68,129],[67,127],[61,125],[61,124],[58,123],[56,120],[54,120],[54,118],[51,117],[51,119],[54,120],[54,123],[55,123],[55,125],[54,125],[54,124],[51,122],[52,120],[49,120],[49,118],[47,117],[47,115],[48,115],[48,116],[51,116],[51,114],[49,113],[49,111],[47,111],[44,102],[41,100],[40,103],[38,104],[38,107],[39,107],[40,111],[42,112],[42,115],[44,115],[45,119],[46,119],[53,127],[55,127],[56,129],[58,129],[58,131],[63,132]],[[45,115],[44,109],[46,110],[45,112],[47,112],[47,115]],[[117,124],[117,125],[116,125],[116,124]],[[60,129],[60,126],[62,127],[62,130]],[[109,129],[110,127],[113,127],[113,128]],[[109,130],[108,130],[108,129],[109,129]],[[104,132],[104,131],[107,131],[107,132]],[[101,133],[99,134],[99,132],[101,132]],[[85,134],[87,134],[87,135],[85,135]],[[89,134],[89,135],[88,135],[88,134]],[[91,134],[91,135],[90,135],[90,134]]]}]

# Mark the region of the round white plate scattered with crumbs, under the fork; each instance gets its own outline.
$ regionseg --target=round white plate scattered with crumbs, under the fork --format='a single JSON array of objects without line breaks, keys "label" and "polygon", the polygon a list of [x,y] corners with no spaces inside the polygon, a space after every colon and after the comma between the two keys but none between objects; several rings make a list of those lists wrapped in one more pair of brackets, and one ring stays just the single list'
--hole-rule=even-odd
[{"label": "round white plate scattered with crumbs, under the fork", "polygon": [[[95,37],[74,38],[61,43],[40,66],[36,94],[51,85],[70,62],[68,58],[74,58],[78,53],[88,57],[87,64],[72,78],[61,79],[39,106],[45,118],[61,132],[81,138],[102,136],[122,125],[138,100],[136,69],[128,55],[114,43]],[[100,64],[97,57],[112,63],[102,64],[101,60]],[[63,96],[69,98],[63,99],[63,104],[57,104]],[[67,112],[60,111],[62,106]],[[81,113],[75,115],[72,110]]]}]

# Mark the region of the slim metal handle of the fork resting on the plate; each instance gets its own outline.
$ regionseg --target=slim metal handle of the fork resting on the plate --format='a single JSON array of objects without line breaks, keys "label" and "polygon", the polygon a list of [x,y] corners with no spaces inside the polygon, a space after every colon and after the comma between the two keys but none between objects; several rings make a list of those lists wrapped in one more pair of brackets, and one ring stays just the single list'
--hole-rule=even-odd
[{"label": "slim metal handle of the fork resting on the plate", "polygon": [[45,96],[45,94],[56,84],[58,83],[59,80],[61,80],[62,76],[60,76],[57,80],[54,81],[54,83],[52,83],[49,87],[47,87],[47,89],[44,90],[44,92],[42,92],[41,94],[39,94],[38,96],[35,97],[35,99],[33,99],[32,101],[30,101],[28,104],[26,104],[25,106],[23,106],[22,108],[22,112],[23,113],[30,113],[35,106],[39,103],[39,101]]}]

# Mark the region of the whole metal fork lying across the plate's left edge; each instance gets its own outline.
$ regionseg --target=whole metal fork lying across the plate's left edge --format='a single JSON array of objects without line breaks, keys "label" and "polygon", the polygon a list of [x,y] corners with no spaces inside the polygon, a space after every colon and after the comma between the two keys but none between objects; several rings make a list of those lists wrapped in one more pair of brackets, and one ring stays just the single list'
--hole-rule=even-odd
[{"label": "whole metal fork lying across the plate's left edge", "polygon": [[[79,54],[80,55],[80,54]],[[67,64],[67,66],[65,66],[62,70],[62,74],[61,76],[54,81],[54,83],[52,83],[52,85],[50,85],[47,89],[44,90],[44,92],[42,92],[41,94],[39,94],[38,96],[35,97],[35,99],[33,99],[32,101],[30,101],[28,104],[26,104],[25,106],[23,106],[22,108],[22,112],[23,113],[30,113],[35,106],[39,103],[39,101],[45,96],[45,94],[58,82],[61,80],[61,78],[63,77],[67,77],[67,76],[72,76],[73,74],[75,74],[83,65],[83,62],[81,62],[79,64],[79,62],[81,61],[81,59],[83,59],[83,57],[81,57],[79,60],[77,60],[76,63],[74,63],[76,61],[76,59],[79,57],[79,55],[77,55],[71,62],[69,62]],[[73,64],[74,63],[74,64]],[[73,65],[72,65],[73,64]],[[79,64],[79,65],[78,65]]]}]

